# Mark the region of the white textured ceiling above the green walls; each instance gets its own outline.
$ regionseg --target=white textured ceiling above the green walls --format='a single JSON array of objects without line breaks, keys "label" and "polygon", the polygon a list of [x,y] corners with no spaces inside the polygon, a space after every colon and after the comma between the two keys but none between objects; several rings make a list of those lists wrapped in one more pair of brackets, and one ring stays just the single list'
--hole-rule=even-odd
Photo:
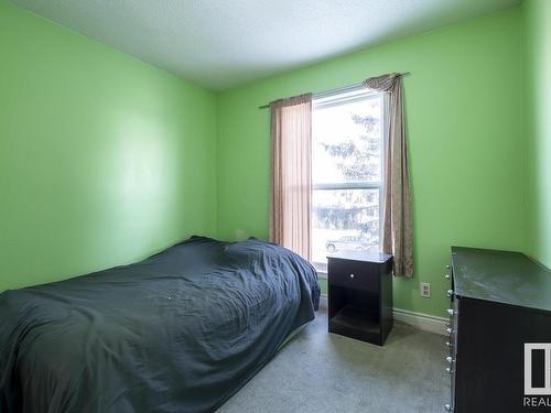
[{"label": "white textured ceiling above the green walls", "polygon": [[519,0],[12,0],[214,90]]}]

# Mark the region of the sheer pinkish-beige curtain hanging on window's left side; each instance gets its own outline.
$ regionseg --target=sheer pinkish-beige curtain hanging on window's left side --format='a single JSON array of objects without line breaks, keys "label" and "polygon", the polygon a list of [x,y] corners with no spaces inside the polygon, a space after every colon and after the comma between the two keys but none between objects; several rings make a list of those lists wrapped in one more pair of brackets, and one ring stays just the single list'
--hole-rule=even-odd
[{"label": "sheer pinkish-beige curtain hanging on window's left side", "polygon": [[270,241],[311,258],[312,94],[270,104]]}]

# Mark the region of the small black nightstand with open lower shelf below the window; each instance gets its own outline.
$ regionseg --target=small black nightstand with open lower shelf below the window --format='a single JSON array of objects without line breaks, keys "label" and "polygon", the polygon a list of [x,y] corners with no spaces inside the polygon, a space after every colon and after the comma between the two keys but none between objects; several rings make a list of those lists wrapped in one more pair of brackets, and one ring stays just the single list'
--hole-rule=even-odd
[{"label": "small black nightstand with open lower shelf below the window", "polygon": [[329,333],[382,346],[392,328],[392,256],[327,257]]}]

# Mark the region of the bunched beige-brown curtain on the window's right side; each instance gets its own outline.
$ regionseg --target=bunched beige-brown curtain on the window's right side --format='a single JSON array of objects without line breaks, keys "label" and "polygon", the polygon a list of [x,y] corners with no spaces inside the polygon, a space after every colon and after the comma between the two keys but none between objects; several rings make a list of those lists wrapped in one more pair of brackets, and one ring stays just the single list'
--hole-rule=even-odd
[{"label": "bunched beige-brown curtain on the window's right side", "polygon": [[389,94],[389,118],[385,133],[382,250],[395,256],[395,275],[413,276],[413,236],[402,75],[393,73],[371,77],[364,85],[369,89]]}]

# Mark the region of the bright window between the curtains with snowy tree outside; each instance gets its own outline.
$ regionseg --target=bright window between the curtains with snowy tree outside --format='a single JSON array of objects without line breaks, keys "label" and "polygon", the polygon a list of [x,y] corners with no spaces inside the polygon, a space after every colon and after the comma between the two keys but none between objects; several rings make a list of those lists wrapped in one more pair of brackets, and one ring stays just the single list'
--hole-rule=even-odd
[{"label": "bright window between the curtains with snowy tree outside", "polygon": [[326,271],[338,251],[379,251],[382,217],[382,94],[317,95],[312,113],[312,261]]}]

